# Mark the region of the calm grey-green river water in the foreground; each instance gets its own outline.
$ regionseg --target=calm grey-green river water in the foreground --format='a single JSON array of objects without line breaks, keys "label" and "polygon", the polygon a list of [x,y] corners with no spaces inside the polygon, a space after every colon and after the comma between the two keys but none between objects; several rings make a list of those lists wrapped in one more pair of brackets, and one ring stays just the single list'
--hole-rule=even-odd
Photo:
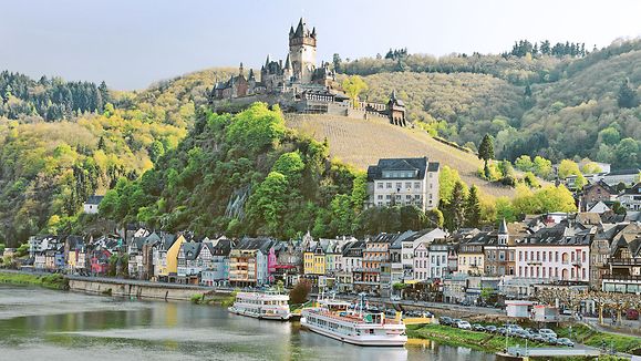
[{"label": "calm grey-green river water in the foreground", "polygon": [[443,360],[493,354],[425,341],[361,348],[301,330],[189,302],[0,285],[0,360]]}]

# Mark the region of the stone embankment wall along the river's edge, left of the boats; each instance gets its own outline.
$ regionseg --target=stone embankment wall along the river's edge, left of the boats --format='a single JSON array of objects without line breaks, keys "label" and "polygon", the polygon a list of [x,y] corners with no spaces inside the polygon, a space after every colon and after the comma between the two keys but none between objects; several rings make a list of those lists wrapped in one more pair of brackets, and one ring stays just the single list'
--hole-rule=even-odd
[{"label": "stone embankment wall along the river's edge, left of the boats", "polygon": [[[70,277],[69,288],[72,291],[95,295],[187,301],[190,300],[194,295],[214,291],[211,288],[188,285],[156,283],[125,279],[97,279],[91,277]],[[216,292],[229,293],[230,291],[216,290]]]}]

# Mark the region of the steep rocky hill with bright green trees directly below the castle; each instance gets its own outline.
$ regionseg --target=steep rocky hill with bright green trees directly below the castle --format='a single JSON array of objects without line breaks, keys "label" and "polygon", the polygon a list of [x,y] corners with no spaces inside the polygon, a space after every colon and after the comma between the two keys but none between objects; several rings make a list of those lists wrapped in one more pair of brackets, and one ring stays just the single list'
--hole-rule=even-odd
[{"label": "steep rocky hill with bright green trees directly below the castle", "polygon": [[176,151],[138,180],[118,180],[100,209],[112,219],[167,230],[282,238],[430,221],[411,207],[403,217],[396,209],[372,220],[372,213],[361,213],[365,174],[328,156],[325,144],[288,130],[278,107],[256,103],[237,115],[203,111]]}]

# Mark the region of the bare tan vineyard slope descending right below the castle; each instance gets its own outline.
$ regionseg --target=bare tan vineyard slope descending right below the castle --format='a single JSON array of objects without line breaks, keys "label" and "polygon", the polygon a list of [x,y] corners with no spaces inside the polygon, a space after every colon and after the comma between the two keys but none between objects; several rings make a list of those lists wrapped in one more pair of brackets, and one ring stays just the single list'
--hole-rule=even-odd
[{"label": "bare tan vineyard slope descending right below the castle", "polygon": [[383,157],[427,156],[458,171],[468,185],[493,196],[511,196],[514,189],[499,187],[476,176],[483,163],[474,155],[433,140],[417,128],[390,125],[385,120],[354,120],[329,115],[286,116],[287,124],[318,141],[327,138],[333,157],[361,169]]}]

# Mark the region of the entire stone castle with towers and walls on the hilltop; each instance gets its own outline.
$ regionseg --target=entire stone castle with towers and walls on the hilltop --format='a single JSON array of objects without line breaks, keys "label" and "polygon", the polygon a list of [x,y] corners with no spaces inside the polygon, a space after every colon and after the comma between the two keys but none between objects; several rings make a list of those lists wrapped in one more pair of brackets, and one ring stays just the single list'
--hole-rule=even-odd
[{"label": "entire stone castle with towers and walls on the hilltop", "polygon": [[211,104],[230,102],[248,104],[262,101],[280,104],[286,112],[331,114],[366,118],[387,117],[390,123],[404,126],[405,105],[393,92],[386,104],[358,102],[358,106],[344,94],[335,73],[328,62],[317,66],[317,32],[308,28],[303,18],[296,29],[289,29],[289,52],[285,62],[267,55],[260,68],[260,80],[252,69],[246,76],[242,63],[237,75],[216,82],[210,91]]}]

